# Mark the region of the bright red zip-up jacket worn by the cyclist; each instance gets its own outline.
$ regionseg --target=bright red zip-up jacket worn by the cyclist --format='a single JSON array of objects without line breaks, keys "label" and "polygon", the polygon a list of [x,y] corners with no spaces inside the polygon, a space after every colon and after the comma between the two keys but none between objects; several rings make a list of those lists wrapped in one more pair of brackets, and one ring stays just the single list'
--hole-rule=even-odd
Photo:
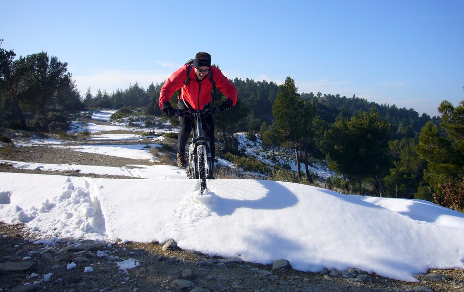
[{"label": "bright red zip-up jacket worn by the cyclist", "polygon": [[[161,87],[159,106],[162,108],[163,102],[168,101],[176,90],[182,87],[181,99],[189,103],[193,109],[203,109],[203,105],[211,102],[212,84],[208,74],[201,80],[197,81],[195,69],[190,71],[190,82],[184,85],[187,78],[187,71],[190,64],[187,64],[172,73],[163,87]],[[211,73],[219,89],[227,98],[232,100],[232,104],[237,103],[237,89],[229,82],[227,77],[222,74],[221,70],[211,66]]]}]

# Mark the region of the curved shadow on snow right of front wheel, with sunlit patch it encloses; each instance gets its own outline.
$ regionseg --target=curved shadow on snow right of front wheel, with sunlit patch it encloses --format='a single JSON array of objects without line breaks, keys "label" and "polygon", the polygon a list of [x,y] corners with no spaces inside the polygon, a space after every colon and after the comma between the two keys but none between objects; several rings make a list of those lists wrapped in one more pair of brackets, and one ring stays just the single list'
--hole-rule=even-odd
[{"label": "curved shadow on snow right of front wheel, with sunlit patch it encloses", "polygon": [[228,180],[221,181],[217,187],[221,188],[218,191],[221,196],[214,193],[214,212],[219,216],[232,215],[242,208],[277,210],[298,203],[298,198],[291,190],[275,181]]}]

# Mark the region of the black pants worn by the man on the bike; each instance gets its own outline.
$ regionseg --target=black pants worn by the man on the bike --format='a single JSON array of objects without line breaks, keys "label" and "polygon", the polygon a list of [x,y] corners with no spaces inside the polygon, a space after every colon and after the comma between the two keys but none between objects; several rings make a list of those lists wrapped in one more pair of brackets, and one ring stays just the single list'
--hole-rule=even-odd
[{"label": "black pants worn by the man on the bike", "polygon": [[[179,100],[177,103],[177,107],[180,109],[186,109],[187,106],[184,104],[182,100]],[[212,119],[212,114],[206,114],[201,118],[201,122],[203,123],[203,131],[205,136],[210,138],[210,148],[211,148],[211,160],[212,164],[214,165],[214,157],[216,156],[216,146],[214,145],[214,121]],[[193,116],[191,114],[186,113],[184,116],[179,117],[180,123],[180,132],[179,132],[179,150],[178,153],[181,155],[185,154],[185,146],[187,145],[187,141],[189,140],[190,133],[194,126]]]}]

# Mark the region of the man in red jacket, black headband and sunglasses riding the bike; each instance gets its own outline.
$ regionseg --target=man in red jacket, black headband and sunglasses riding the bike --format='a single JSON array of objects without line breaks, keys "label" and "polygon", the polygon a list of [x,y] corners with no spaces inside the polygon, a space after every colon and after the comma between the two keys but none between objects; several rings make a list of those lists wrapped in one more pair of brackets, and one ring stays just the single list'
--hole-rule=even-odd
[{"label": "man in red jacket, black headband and sunglasses riding the bike", "polygon": [[[179,109],[198,110],[204,109],[205,105],[211,105],[211,90],[213,88],[213,84],[211,83],[210,78],[205,78],[206,76],[211,76],[209,75],[210,71],[216,88],[219,89],[227,98],[222,102],[220,109],[230,109],[232,108],[232,105],[237,103],[237,89],[227,79],[227,77],[222,74],[219,68],[211,66],[210,54],[205,52],[197,53],[195,55],[195,59],[193,59],[194,70],[191,70],[190,75],[187,77],[189,67],[190,64],[186,64],[177,69],[168,78],[166,83],[164,83],[163,87],[161,87],[159,106],[168,117],[174,114],[174,108],[171,106],[169,98],[180,88],[182,88],[181,95],[177,102],[177,107]],[[186,82],[186,77],[190,79],[188,80],[189,82]],[[179,123],[181,130],[179,132],[178,139],[179,148],[177,151],[177,166],[185,168],[187,167],[185,147],[193,129],[192,115],[188,113],[181,115],[179,117]],[[210,139],[211,160],[214,163],[214,121],[211,113],[202,117],[202,123],[205,135]]]}]

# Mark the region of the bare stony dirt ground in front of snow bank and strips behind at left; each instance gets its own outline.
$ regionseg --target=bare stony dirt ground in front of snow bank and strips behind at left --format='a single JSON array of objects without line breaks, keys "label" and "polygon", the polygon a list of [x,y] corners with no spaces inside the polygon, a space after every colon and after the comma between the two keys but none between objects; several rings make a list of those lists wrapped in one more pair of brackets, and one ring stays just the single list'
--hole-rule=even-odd
[{"label": "bare stony dirt ground in front of snow bank and strips behind at left", "polygon": [[[148,164],[47,146],[3,146],[0,159],[116,167]],[[44,174],[7,164],[0,164],[0,172]],[[257,265],[180,250],[175,242],[43,238],[22,225],[0,223],[0,291],[464,291],[463,270],[433,269],[416,278],[418,282],[401,282],[356,267],[320,273],[295,271],[285,260]]]}]

